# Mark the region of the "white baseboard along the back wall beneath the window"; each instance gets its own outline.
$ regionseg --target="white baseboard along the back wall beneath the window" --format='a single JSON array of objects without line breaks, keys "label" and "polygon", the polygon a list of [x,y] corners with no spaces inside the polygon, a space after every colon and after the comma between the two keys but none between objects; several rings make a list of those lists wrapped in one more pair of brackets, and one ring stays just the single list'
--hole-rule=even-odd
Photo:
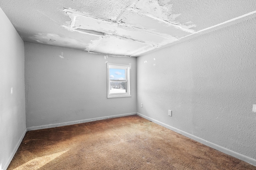
[{"label": "white baseboard along the back wall beneath the window", "polygon": [[92,119],[84,119],[84,120],[80,120],[80,121],[71,121],[71,122],[56,123],[56,124],[50,124],[50,125],[42,125],[42,126],[38,126],[38,127],[27,127],[27,131],[44,129],[44,128],[62,127],[62,126],[66,126],[66,125],[74,125],[74,124],[78,124],[78,123],[100,121],[100,120],[103,120],[103,119],[110,119],[110,118],[115,118],[115,117],[124,117],[124,116],[130,116],[130,115],[136,115],[136,112],[134,112],[134,113],[125,113],[125,114],[121,114],[121,115],[97,117],[97,118],[92,118]]}]

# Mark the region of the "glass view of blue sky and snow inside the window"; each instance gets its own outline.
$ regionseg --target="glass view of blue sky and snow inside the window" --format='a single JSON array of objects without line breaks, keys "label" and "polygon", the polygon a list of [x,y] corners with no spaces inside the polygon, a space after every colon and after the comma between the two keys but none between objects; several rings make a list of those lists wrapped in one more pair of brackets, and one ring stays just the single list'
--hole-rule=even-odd
[{"label": "glass view of blue sky and snow inside the window", "polygon": [[126,93],[125,69],[109,69],[109,75],[110,93]]}]

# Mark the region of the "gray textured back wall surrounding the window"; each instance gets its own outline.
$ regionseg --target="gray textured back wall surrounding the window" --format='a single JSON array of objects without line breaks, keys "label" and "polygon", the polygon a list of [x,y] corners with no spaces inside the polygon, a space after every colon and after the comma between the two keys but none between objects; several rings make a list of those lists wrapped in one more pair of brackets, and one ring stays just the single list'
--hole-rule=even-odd
[{"label": "gray textured back wall surrounding the window", "polygon": [[[132,97],[107,99],[107,61],[132,64]],[[136,58],[25,43],[25,92],[27,127],[135,113]]]}]

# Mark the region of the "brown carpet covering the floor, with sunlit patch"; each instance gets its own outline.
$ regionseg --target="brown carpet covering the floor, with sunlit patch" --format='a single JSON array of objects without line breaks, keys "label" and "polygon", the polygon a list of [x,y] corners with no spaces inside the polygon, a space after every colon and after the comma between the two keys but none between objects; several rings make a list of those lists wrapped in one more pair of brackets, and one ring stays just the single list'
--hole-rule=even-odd
[{"label": "brown carpet covering the floor, with sunlit patch", "polygon": [[256,170],[137,115],[26,133],[8,170]]}]

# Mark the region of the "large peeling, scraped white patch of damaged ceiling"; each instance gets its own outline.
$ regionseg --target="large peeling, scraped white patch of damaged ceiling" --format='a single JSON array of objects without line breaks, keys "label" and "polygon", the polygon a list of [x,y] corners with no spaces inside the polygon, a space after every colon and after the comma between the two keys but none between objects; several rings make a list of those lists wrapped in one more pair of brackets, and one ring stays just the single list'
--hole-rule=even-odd
[{"label": "large peeling, scraped white patch of damaged ceiling", "polygon": [[100,36],[86,46],[86,51],[138,56],[196,33],[190,29],[192,26],[173,22],[178,15],[171,14],[169,1],[136,0],[116,20],[104,20],[74,9],[64,9],[70,17],[70,24],[62,27]]}]

